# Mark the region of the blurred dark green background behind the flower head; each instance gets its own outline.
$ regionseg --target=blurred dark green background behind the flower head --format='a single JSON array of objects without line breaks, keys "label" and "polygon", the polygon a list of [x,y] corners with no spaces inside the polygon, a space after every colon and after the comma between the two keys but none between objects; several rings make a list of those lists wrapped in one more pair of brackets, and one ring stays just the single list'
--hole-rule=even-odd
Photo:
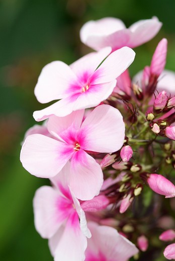
[{"label": "blurred dark green background behind the flower head", "polygon": [[166,68],[174,70],[174,13],[174,0],[0,1],[1,261],[53,260],[47,240],[35,231],[32,209],[35,190],[49,184],[48,180],[33,177],[19,161],[25,131],[35,124],[32,113],[45,107],[33,93],[43,66],[53,60],[70,64],[88,53],[90,49],[80,43],[79,29],[89,20],[112,16],[128,27],[140,19],[157,16],[162,29],[153,40],[135,48],[130,73],[134,75],[150,64],[163,37],[168,39]]}]

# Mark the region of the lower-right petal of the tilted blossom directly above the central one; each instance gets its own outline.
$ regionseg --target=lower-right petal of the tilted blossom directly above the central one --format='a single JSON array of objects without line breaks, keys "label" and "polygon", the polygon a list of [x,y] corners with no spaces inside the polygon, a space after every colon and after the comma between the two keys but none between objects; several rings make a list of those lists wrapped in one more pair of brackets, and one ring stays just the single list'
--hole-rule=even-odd
[{"label": "lower-right petal of the tilted blossom directly above the central one", "polygon": [[74,103],[73,110],[95,107],[106,100],[116,86],[116,80],[91,86],[87,91],[81,93]]}]

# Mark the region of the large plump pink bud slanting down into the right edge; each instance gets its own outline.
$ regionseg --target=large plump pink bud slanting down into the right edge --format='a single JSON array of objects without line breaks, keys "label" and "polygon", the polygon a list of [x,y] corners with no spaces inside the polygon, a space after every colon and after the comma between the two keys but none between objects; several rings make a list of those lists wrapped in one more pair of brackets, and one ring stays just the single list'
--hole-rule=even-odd
[{"label": "large plump pink bud slanting down into the right edge", "polygon": [[175,186],[165,177],[159,174],[150,174],[147,179],[149,187],[165,198],[175,197]]}]

